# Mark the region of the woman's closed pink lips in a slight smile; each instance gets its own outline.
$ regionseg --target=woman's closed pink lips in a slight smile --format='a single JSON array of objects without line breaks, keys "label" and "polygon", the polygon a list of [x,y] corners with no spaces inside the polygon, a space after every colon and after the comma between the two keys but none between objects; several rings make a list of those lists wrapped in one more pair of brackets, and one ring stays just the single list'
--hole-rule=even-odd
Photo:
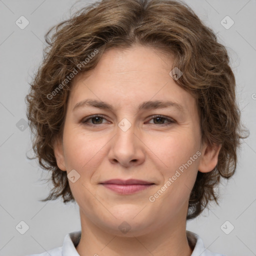
[{"label": "woman's closed pink lips in a slight smile", "polygon": [[155,185],[153,182],[139,179],[110,179],[99,184],[119,194],[131,194]]}]

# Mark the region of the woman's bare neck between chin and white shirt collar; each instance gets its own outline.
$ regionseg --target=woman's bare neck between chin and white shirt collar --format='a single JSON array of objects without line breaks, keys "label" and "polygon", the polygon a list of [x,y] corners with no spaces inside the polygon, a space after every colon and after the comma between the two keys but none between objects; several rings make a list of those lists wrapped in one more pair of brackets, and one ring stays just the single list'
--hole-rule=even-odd
[{"label": "woman's bare neck between chin and white shirt collar", "polygon": [[[192,249],[186,237],[186,221],[170,222],[143,235],[117,236],[92,223],[80,211],[81,238],[76,250],[87,255],[154,255],[190,256]],[[128,234],[128,233],[127,233]]]}]

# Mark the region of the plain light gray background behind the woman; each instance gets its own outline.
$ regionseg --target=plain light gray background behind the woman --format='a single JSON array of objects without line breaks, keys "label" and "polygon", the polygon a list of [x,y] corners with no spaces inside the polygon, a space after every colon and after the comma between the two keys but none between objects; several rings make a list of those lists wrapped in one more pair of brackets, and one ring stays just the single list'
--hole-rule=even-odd
[{"label": "plain light gray background behind the woman", "polygon": [[[26,120],[28,81],[42,59],[43,36],[51,25],[69,17],[75,2],[0,0],[0,255],[43,252],[61,246],[66,233],[80,229],[77,204],[38,201],[48,194],[49,186],[40,181],[48,174],[35,160],[26,159],[26,152],[32,155],[30,131],[21,126],[25,124],[22,118]],[[73,10],[87,2],[77,2]],[[185,2],[227,47],[242,121],[250,130],[242,143],[235,175],[219,188],[219,206],[212,204],[210,210],[188,221],[187,229],[198,233],[212,251],[227,256],[256,255],[256,1]],[[24,29],[15,24],[21,15],[29,21]],[[226,15],[234,21],[229,29],[220,23]],[[15,228],[21,220],[29,226],[24,234]],[[226,232],[234,226],[229,234],[220,228],[226,220],[230,222],[224,224]]]}]

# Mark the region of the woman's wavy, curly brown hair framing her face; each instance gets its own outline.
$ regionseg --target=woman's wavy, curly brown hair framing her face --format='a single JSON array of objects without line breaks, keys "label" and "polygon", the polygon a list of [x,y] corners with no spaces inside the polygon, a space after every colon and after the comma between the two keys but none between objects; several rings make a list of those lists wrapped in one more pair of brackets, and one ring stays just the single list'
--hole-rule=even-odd
[{"label": "woman's wavy, curly brown hair framing her face", "polygon": [[[40,166],[51,171],[49,180],[53,183],[50,194],[41,201],[59,196],[64,203],[74,201],[66,172],[58,168],[53,153],[55,139],[62,137],[72,85],[72,79],[67,78],[72,77],[74,69],[86,73],[94,68],[107,48],[128,48],[139,43],[172,54],[173,67],[183,72],[176,84],[197,101],[201,140],[222,145],[215,168],[197,172],[186,218],[199,215],[209,201],[217,203],[214,188],[220,177],[228,179],[233,175],[240,139],[248,135],[243,134],[245,129],[240,123],[227,51],[185,3],[101,0],[51,27],[44,37],[48,46],[25,98],[26,115],[35,135],[35,156],[28,158],[38,158]],[[95,51],[97,54],[91,57]]]}]

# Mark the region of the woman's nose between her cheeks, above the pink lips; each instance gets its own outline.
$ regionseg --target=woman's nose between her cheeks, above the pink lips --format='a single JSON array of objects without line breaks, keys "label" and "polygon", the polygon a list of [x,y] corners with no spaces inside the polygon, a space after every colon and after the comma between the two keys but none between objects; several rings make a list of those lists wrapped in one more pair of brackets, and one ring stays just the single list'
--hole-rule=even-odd
[{"label": "woman's nose between her cheeks, above the pink lips", "polygon": [[108,159],[112,164],[124,167],[136,166],[145,159],[143,143],[139,139],[139,132],[134,125],[124,131],[117,127],[116,134],[111,139]]}]

